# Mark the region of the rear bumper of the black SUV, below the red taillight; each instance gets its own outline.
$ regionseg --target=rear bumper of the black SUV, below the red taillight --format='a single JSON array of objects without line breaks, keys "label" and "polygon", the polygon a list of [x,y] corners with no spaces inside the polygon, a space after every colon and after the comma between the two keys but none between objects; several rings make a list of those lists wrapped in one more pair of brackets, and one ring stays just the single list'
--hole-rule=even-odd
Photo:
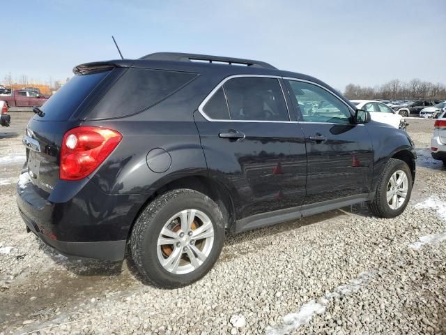
[{"label": "rear bumper of the black SUV, below the red taillight", "polygon": [[17,186],[17,206],[29,230],[65,255],[123,260],[128,234],[144,197],[110,195],[88,179],[80,188],[76,182],[61,186],[65,193],[72,192],[70,188],[76,191],[64,199],[54,196],[58,186],[51,197],[45,197],[31,182]]}]

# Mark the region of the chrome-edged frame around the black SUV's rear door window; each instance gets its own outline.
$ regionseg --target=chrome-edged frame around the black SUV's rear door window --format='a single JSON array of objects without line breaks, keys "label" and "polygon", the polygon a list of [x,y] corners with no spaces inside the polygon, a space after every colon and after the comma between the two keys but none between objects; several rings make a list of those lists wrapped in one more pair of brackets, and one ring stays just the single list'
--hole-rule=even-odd
[{"label": "chrome-edged frame around the black SUV's rear door window", "polygon": [[[277,82],[279,82],[280,89],[282,90],[282,96],[283,96],[284,101],[285,101],[286,112],[288,113],[289,120],[288,121],[275,121],[275,120],[233,120],[233,119],[212,119],[212,118],[208,117],[206,112],[203,111],[203,107],[210,100],[210,98],[213,97],[215,92],[217,92],[218,89],[220,89],[220,87],[223,87],[223,85],[226,82],[228,82],[229,80],[231,80],[233,78],[243,78],[243,77],[259,77],[259,78],[274,78],[274,79],[277,79]],[[224,78],[221,82],[219,82],[217,84],[217,86],[215,86],[213,88],[212,91],[210,91],[210,93],[206,96],[206,98],[204,98],[204,100],[200,103],[200,105],[198,107],[198,111],[200,112],[200,114],[206,120],[211,121],[211,122],[268,122],[268,123],[273,123],[273,124],[283,124],[285,122],[286,123],[295,122],[295,121],[291,121],[290,106],[288,104],[288,101],[286,100],[285,91],[284,91],[284,87],[282,86],[282,80],[281,79],[282,79],[282,77],[279,76],[279,75],[229,75],[228,77]],[[224,87],[223,87],[223,92],[224,92],[224,98],[226,100],[226,105],[227,105],[228,110],[229,110],[229,103],[228,103],[228,99],[226,97],[226,91],[225,91]],[[230,112],[229,112],[229,117],[231,117],[231,113]]]}]

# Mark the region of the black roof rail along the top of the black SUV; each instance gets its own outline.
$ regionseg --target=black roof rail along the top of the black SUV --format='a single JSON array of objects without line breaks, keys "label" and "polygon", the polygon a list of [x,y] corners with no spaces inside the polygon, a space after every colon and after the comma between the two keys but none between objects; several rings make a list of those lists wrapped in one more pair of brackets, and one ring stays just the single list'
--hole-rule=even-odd
[{"label": "black roof rail along the top of the black SUV", "polygon": [[183,54],[181,52],[155,52],[155,54],[147,54],[140,59],[153,61],[202,61],[214,64],[228,64],[228,65],[245,65],[254,68],[273,68],[277,69],[271,64],[264,61],[254,61],[252,59],[240,59],[232,57],[210,56],[208,54]]}]

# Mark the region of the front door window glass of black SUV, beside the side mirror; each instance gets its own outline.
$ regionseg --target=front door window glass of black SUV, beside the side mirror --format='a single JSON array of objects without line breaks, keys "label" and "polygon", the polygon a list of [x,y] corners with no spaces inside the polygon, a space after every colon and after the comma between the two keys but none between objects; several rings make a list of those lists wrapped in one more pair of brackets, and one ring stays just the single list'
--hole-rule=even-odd
[{"label": "front door window glass of black SUV, beside the side mirror", "polygon": [[349,123],[351,112],[336,96],[329,91],[307,82],[289,80],[292,94],[302,114],[302,121]]}]

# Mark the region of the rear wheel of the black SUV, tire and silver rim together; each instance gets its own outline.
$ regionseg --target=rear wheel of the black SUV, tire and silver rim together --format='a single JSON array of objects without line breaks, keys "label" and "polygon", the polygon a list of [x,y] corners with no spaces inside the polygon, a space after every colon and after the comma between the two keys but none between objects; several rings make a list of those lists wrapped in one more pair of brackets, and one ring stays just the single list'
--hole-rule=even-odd
[{"label": "rear wheel of the black SUV, tire and silver rim together", "polygon": [[206,195],[189,189],[164,193],[134,224],[130,246],[144,279],[162,288],[198,281],[222,251],[222,211]]}]

